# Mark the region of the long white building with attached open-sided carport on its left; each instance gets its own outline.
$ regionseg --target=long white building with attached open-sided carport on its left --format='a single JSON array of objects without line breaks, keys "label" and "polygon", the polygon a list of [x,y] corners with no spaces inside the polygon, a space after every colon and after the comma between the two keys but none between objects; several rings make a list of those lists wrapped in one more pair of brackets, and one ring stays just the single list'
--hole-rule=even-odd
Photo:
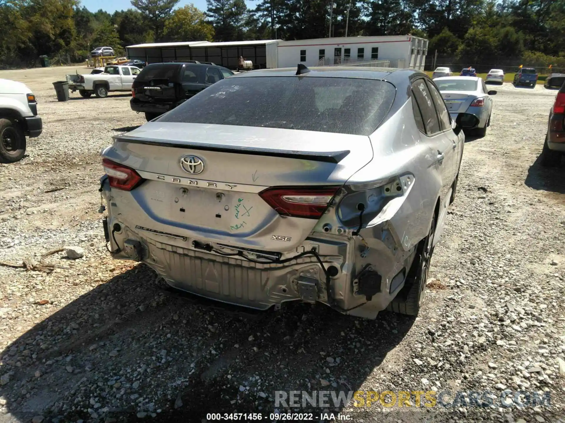
[{"label": "long white building with attached open-sided carport on its left", "polygon": [[236,69],[238,58],[254,69],[355,65],[424,70],[428,40],[411,35],[333,37],[282,41],[148,43],[127,47],[129,59],[147,63],[198,60]]}]

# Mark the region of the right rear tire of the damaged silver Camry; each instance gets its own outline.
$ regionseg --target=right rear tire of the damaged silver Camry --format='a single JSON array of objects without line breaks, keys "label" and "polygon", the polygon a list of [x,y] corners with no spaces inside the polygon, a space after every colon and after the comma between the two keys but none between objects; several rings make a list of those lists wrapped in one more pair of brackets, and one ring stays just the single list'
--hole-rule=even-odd
[{"label": "right rear tire of the damaged silver Camry", "polygon": [[[429,265],[433,254],[433,235],[436,230],[436,216],[432,218],[428,236],[418,243],[416,255],[408,275],[406,276],[405,288],[408,289],[406,299],[398,296],[386,307],[386,310],[394,311],[408,316],[418,316],[420,307],[424,300],[424,290],[428,282]],[[404,290],[404,288],[403,288]]]}]

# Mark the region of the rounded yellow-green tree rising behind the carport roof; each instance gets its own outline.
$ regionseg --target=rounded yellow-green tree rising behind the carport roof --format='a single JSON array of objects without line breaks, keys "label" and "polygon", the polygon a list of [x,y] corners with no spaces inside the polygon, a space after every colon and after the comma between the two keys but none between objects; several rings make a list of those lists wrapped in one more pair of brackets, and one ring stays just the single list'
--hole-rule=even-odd
[{"label": "rounded yellow-green tree rising behind the carport roof", "polygon": [[214,41],[214,27],[206,22],[204,12],[190,4],[167,19],[163,37],[166,41]]}]

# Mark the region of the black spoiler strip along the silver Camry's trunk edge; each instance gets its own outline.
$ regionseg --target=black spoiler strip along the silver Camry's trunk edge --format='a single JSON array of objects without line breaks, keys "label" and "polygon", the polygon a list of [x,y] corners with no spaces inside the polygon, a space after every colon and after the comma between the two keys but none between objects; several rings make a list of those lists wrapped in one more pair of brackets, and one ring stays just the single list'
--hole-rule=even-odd
[{"label": "black spoiler strip along the silver Camry's trunk edge", "polygon": [[210,144],[210,143],[176,143],[168,142],[159,139],[147,139],[138,138],[136,136],[128,135],[118,135],[113,136],[114,142],[126,142],[134,144],[146,144],[148,146],[159,146],[159,147],[176,147],[176,148],[187,148],[195,149],[201,151],[218,151],[224,153],[237,153],[237,154],[248,154],[254,156],[270,156],[270,157],[285,157],[285,158],[296,158],[298,160],[312,160],[327,163],[339,163],[344,160],[347,155],[349,155],[349,150],[342,151],[293,151],[293,150],[279,150],[279,149],[268,149],[268,148],[255,148],[255,147],[226,147],[221,144]]}]

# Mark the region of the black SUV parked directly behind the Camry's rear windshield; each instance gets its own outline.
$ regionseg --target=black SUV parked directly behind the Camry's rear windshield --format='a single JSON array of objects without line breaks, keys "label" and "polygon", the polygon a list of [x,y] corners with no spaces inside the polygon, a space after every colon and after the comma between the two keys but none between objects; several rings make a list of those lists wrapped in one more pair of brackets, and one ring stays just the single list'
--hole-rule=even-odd
[{"label": "black SUV parked directly behind the Camry's rear windshield", "polygon": [[150,64],[133,81],[129,104],[133,111],[144,112],[150,121],[231,75],[231,70],[210,64]]}]

